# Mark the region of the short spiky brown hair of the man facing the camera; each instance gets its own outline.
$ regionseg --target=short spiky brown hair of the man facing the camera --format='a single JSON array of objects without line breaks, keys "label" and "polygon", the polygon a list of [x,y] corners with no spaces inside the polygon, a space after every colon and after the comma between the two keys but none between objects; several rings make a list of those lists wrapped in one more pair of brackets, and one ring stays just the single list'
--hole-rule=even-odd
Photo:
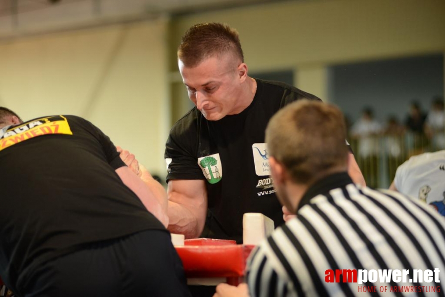
[{"label": "short spiky brown hair of the man facing the camera", "polygon": [[238,32],[222,23],[196,24],[182,36],[178,59],[186,67],[195,67],[203,60],[231,53],[244,62]]}]

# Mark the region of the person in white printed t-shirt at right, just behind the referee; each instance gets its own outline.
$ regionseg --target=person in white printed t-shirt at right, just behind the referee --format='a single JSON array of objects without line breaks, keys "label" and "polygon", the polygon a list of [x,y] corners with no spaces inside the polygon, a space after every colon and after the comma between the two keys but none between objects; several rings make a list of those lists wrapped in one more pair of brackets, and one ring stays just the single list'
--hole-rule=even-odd
[{"label": "person in white printed t-shirt at right, just behind the referee", "polygon": [[390,190],[431,205],[445,215],[445,150],[410,157],[399,166]]}]

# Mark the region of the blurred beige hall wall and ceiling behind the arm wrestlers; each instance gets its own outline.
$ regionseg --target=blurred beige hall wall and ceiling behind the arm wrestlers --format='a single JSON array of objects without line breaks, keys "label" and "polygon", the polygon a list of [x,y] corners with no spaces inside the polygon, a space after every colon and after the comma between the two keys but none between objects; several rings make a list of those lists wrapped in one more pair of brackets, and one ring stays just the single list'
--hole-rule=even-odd
[{"label": "blurred beige hall wall and ceiling behind the arm wrestlers", "polygon": [[427,109],[444,96],[444,0],[8,2],[0,105],[86,117],[161,176],[168,131],[191,107],[176,49],[195,23],[236,28],[251,75],[289,81],[351,121],[365,105],[402,119],[412,99]]}]

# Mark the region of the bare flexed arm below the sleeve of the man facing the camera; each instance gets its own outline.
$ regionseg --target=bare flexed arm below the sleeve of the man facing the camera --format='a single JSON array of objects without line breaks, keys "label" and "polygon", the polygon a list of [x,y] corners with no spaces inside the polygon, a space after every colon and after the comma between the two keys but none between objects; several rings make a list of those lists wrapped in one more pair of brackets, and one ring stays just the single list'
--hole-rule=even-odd
[{"label": "bare flexed arm below the sleeve of the man facing the camera", "polygon": [[204,180],[170,180],[168,184],[169,227],[185,238],[201,235],[207,214],[207,189]]}]

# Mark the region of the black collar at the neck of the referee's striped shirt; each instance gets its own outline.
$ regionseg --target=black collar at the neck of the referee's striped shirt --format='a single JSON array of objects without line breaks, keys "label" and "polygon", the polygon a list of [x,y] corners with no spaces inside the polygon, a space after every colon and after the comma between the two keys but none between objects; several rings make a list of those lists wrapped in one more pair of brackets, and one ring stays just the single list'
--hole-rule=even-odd
[{"label": "black collar at the neck of the referee's striped shirt", "polygon": [[340,188],[348,184],[352,184],[353,181],[347,172],[339,172],[323,177],[316,181],[309,187],[308,191],[303,195],[303,198],[298,204],[297,212],[306,204],[309,204],[312,198],[319,194],[326,194],[332,189]]}]

